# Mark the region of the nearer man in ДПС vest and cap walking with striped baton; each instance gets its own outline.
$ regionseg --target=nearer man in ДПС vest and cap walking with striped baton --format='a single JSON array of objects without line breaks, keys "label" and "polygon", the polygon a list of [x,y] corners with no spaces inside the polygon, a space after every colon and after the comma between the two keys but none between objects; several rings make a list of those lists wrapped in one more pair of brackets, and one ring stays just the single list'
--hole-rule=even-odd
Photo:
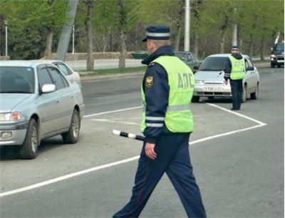
[{"label": "nearer man in \u0414\u041f\u0421 vest and cap walking with striped baton", "polygon": [[[190,162],[189,139],[194,131],[190,109],[195,79],[170,46],[170,27],[147,27],[147,50],[142,61],[142,133],[145,135],[130,202],[114,217],[138,217],[150,194],[167,174],[188,217],[206,217]],[[161,203],[167,199],[161,199]],[[167,217],[167,214],[161,216]]]}]

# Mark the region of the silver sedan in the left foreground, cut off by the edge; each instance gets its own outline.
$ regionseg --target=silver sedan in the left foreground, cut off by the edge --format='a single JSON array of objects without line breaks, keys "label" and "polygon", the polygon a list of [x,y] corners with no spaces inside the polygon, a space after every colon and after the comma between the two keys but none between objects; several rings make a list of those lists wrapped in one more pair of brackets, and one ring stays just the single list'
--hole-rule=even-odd
[{"label": "silver sedan in the left foreground, cut off by the edge", "polygon": [[78,141],[81,88],[53,64],[1,61],[0,102],[0,146],[19,145],[21,158],[35,158],[41,139]]}]

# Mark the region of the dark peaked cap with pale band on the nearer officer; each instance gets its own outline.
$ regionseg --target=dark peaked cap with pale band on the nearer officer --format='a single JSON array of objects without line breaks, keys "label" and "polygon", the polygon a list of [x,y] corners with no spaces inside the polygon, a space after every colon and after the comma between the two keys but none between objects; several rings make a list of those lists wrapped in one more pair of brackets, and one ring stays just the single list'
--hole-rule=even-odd
[{"label": "dark peaked cap with pale band on the nearer officer", "polygon": [[142,41],[147,41],[147,39],[154,39],[154,40],[170,39],[170,26],[168,25],[147,26],[146,38],[143,39]]}]

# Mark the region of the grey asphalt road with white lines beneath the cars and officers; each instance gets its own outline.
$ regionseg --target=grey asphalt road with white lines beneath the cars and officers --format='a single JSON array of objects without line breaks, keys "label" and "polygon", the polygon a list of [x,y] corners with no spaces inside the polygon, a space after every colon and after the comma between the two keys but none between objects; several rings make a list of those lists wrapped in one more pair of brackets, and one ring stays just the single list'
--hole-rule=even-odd
[{"label": "grey asphalt road with white lines beneath the cars and officers", "polygon": [[[227,110],[230,99],[192,104],[190,154],[208,217],[284,217],[284,69],[259,72],[259,99],[238,113]],[[0,217],[111,217],[123,207],[141,143],[110,131],[140,132],[141,79],[83,81],[86,117],[78,144],[46,139],[33,160],[4,149]],[[141,217],[186,217],[167,177]]]}]

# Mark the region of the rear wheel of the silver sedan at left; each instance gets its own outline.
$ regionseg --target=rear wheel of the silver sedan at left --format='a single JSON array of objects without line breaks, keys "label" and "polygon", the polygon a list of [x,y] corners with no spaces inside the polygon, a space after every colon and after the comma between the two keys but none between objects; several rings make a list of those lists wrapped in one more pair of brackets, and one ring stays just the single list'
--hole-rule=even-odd
[{"label": "rear wheel of the silver sedan at left", "polygon": [[75,144],[79,138],[79,131],[81,127],[81,120],[76,109],[73,110],[71,118],[71,126],[68,132],[61,134],[63,142],[66,144]]}]

